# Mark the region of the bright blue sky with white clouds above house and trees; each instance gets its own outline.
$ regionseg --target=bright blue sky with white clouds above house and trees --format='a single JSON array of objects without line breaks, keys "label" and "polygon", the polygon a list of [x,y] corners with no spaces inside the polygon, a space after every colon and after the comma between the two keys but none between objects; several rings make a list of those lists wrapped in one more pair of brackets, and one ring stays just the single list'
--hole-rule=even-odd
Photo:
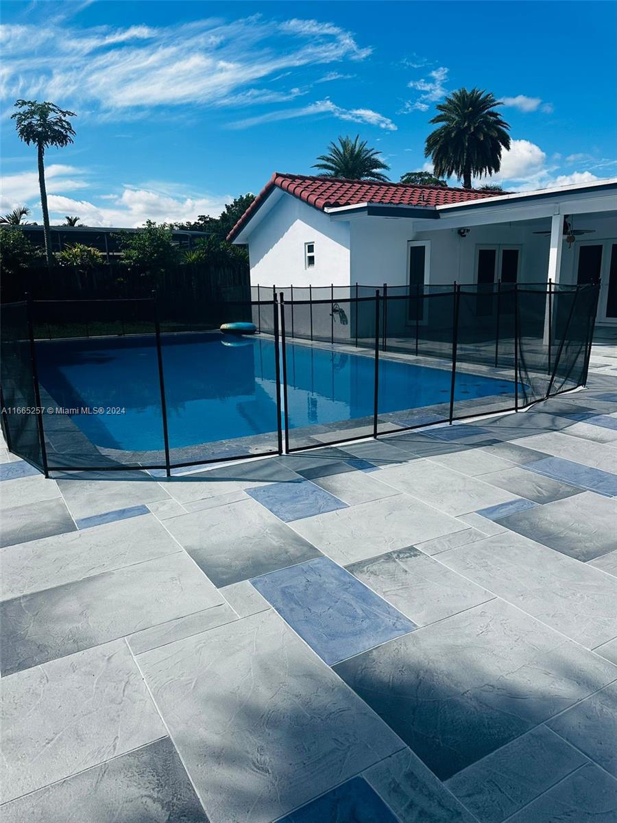
[{"label": "bright blue sky with white clouds above house and trees", "polygon": [[341,134],[398,180],[461,86],[507,104],[508,188],[617,176],[616,32],[615,2],[2,2],[0,208],[40,215],[17,97],[78,114],[47,155],[53,222],[216,215]]}]

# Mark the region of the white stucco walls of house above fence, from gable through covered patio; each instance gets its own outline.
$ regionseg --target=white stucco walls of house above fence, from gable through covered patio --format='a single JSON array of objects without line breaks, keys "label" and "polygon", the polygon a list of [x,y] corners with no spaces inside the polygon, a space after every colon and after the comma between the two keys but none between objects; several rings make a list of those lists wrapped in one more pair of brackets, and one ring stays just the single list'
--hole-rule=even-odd
[{"label": "white stucco walls of house above fence, from gable through covered patio", "polygon": [[[477,250],[484,245],[518,246],[518,281],[546,281],[550,237],[535,232],[550,226],[550,218],[474,225],[464,238],[458,235],[457,228],[438,229],[436,222],[365,215],[346,219],[341,213],[331,216],[281,193],[248,239],[251,282],[267,287],[276,284],[280,288],[331,283],[346,286],[355,282],[362,286],[378,287],[384,282],[404,286],[410,240],[429,241],[428,282],[432,284],[475,283]],[[582,214],[575,217],[575,226],[595,231],[580,236],[572,249],[564,242],[560,273],[564,283],[576,281],[581,243],[608,243],[617,238],[615,217]],[[307,269],[304,244],[310,242],[315,244],[315,266]],[[603,277],[607,273],[603,271]]]}]

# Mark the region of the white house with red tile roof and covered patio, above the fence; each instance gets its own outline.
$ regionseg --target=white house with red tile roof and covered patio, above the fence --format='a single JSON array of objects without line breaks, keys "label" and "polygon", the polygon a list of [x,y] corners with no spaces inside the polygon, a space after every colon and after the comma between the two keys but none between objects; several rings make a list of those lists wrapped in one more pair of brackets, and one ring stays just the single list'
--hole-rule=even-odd
[{"label": "white house with red tile roof and covered patio, above the fence", "polygon": [[275,173],[228,239],[253,286],[601,279],[617,325],[617,178],[495,196]]}]

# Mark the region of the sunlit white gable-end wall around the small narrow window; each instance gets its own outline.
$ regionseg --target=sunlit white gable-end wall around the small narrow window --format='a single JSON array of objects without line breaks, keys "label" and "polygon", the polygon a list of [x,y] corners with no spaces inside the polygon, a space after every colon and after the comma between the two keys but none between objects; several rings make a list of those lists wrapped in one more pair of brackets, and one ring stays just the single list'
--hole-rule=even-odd
[{"label": "sunlit white gable-end wall around the small narrow window", "polygon": [[[315,244],[315,265],[304,265],[304,244]],[[330,286],[349,283],[349,223],[334,223],[284,193],[248,241],[251,285]]]}]

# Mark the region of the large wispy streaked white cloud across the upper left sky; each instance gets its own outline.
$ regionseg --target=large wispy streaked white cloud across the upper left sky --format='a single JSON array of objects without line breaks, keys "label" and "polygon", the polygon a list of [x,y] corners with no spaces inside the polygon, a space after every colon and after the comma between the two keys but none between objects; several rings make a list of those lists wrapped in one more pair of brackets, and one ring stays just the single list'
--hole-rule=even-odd
[{"label": "large wispy streaked white cloud across the upper left sky", "polygon": [[267,103],[268,94],[285,90],[253,89],[256,81],[274,81],[303,66],[363,60],[371,52],[330,23],[259,15],[160,28],[9,25],[2,29],[2,49],[2,96],[8,100],[70,100],[74,109],[116,115],[161,105]]}]

